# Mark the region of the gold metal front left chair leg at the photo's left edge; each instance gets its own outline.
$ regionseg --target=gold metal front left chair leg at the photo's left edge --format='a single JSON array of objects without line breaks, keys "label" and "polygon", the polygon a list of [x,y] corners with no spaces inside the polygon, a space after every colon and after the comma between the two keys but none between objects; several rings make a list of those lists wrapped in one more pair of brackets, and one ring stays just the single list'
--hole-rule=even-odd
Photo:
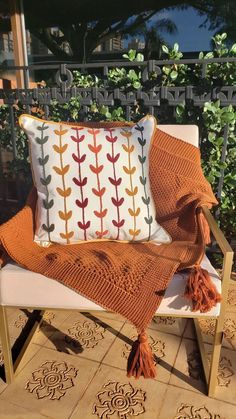
[{"label": "gold metal front left chair leg at the photo's left edge", "polygon": [[12,361],[11,342],[9,337],[6,308],[0,306],[0,338],[4,358],[4,369],[7,384],[10,384],[14,378],[14,368]]}]

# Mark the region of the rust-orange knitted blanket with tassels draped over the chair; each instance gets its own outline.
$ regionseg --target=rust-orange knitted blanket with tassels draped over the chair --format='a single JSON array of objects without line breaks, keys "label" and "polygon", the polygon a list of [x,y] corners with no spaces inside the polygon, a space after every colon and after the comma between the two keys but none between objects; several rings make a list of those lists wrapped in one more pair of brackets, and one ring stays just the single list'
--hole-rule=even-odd
[{"label": "rust-orange knitted blanket with tassels draped over the chair", "polygon": [[[114,125],[119,123],[102,124]],[[207,311],[219,301],[199,266],[206,233],[200,207],[217,202],[202,173],[199,150],[156,130],[150,177],[157,221],[173,239],[168,245],[87,242],[40,247],[33,241],[35,191],[27,205],[0,226],[1,248],[17,263],[62,282],[137,327],[139,337],[128,363],[129,375],[137,377],[155,375],[145,328],[177,270],[192,268],[186,296],[194,309]]]}]

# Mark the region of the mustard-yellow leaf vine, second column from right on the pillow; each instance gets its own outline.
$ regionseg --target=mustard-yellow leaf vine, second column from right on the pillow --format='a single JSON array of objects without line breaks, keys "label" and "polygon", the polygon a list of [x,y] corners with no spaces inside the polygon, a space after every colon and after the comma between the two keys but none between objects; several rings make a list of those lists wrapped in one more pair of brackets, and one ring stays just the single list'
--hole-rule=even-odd
[{"label": "mustard-yellow leaf vine, second column from right on the pillow", "polygon": [[125,192],[128,196],[132,197],[132,208],[128,208],[129,214],[131,217],[133,217],[133,228],[129,229],[129,234],[132,236],[132,240],[135,240],[136,237],[140,234],[140,229],[137,229],[136,225],[136,219],[140,214],[140,208],[136,208],[135,204],[135,195],[138,193],[138,187],[133,185],[133,179],[132,176],[136,172],[136,167],[131,164],[131,153],[134,151],[134,145],[130,145],[130,137],[132,136],[131,131],[121,131],[121,135],[126,138],[127,145],[122,144],[123,149],[128,155],[128,167],[123,166],[124,172],[129,175],[130,180],[130,188],[125,188]]}]

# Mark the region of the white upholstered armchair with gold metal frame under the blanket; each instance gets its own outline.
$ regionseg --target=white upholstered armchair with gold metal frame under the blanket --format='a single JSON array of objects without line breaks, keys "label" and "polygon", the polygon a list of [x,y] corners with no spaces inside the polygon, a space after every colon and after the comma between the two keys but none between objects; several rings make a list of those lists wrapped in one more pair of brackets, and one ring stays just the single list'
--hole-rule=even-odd
[{"label": "white upholstered armchair with gold metal frame under the blanket", "polygon": [[[199,134],[198,127],[195,125],[160,125],[159,128],[170,135],[181,138],[182,140],[198,147]],[[208,395],[212,396],[216,385],[221,343],[223,339],[224,315],[233,251],[226,241],[223,233],[218,228],[218,225],[209,210],[206,207],[203,207],[203,211],[211,228],[212,234],[224,254],[222,279],[219,278],[216,270],[213,268],[206,256],[202,261],[202,266],[209,271],[218,291],[222,293],[222,302],[218,303],[216,307],[207,313],[192,312],[189,302],[182,297],[186,284],[186,275],[177,273],[171,280],[156,314],[158,316],[187,317],[194,319],[199,350],[208,386]],[[34,327],[29,333],[28,338],[13,365],[6,315],[6,309],[8,307],[37,309],[40,310],[41,318],[43,311],[48,309],[68,309],[77,311],[103,310],[103,308],[97,304],[85,297],[82,297],[75,291],[72,291],[53,279],[49,279],[41,274],[27,271],[14,262],[8,263],[4,266],[0,272],[0,338],[7,383],[12,382],[14,373],[16,372],[27,346],[33,337],[33,333],[39,324],[39,321],[35,322]],[[198,319],[207,317],[214,317],[216,319],[215,337],[210,367],[205,354],[201,329],[198,323]]]}]

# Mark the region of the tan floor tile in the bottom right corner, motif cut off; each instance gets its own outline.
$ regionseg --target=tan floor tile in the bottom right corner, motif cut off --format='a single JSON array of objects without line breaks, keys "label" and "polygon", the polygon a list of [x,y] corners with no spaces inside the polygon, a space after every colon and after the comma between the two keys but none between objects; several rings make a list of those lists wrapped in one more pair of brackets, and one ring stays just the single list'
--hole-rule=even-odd
[{"label": "tan floor tile in the bottom right corner, motif cut off", "polygon": [[234,406],[202,394],[168,386],[158,419],[233,419]]}]

